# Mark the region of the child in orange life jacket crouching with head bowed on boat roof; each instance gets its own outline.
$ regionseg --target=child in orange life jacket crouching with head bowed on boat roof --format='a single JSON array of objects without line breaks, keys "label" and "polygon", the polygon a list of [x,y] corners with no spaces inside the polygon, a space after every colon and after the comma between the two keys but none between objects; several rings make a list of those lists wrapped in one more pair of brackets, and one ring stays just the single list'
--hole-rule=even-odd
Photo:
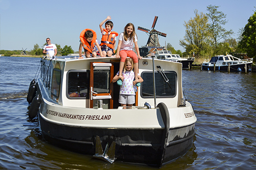
[{"label": "child in orange life jacket crouching with head bowed on boat roof", "polygon": [[91,29],[85,29],[81,32],[80,45],[79,45],[79,59],[82,58],[82,47],[84,49],[84,53],[86,57],[91,57],[91,55],[92,57],[96,57],[97,54],[94,48],[95,45],[99,50],[100,56],[103,57],[102,51],[96,39],[97,39],[96,32]]}]

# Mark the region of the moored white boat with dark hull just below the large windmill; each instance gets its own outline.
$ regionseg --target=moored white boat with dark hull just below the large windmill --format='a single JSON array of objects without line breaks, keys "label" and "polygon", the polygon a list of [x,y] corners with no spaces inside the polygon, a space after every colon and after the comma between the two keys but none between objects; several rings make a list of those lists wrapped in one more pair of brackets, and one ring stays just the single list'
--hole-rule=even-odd
[{"label": "moored white boat with dark hull just below the large windmill", "polygon": [[192,63],[195,61],[195,57],[180,57],[179,54],[172,54],[172,52],[166,50],[166,48],[162,48],[161,50],[159,50],[159,48],[155,48],[152,53],[155,53],[156,58],[160,60],[180,62],[182,63],[182,68],[190,69]]}]

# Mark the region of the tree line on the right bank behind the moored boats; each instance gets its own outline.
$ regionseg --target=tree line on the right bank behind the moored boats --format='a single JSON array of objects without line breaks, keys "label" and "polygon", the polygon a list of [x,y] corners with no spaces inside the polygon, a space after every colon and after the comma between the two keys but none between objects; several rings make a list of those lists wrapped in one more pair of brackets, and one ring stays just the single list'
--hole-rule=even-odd
[{"label": "tree line on the right bank behind the moored boats", "polygon": [[207,6],[208,13],[195,10],[195,17],[185,21],[185,36],[180,45],[185,48],[183,56],[207,58],[214,55],[247,53],[256,59],[256,11],[248,19],[238,39],[232,38],[233,31],[226,30],[226,15],[218,11],[219,6]]}]

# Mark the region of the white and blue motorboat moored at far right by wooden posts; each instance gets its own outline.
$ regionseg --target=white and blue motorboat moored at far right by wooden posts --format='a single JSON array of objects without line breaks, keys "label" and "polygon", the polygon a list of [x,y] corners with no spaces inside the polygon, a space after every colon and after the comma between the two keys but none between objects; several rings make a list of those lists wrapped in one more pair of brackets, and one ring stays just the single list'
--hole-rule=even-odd
[{"label": "white and blue motorboat moored at far right by wooden posts", "polygon": [[220,70],[220,71],[238,71],[247,72],[251,71],[251,64],[253,58],[239,59],[232,55],[220,55],[211,57],[210,61],[204,61],[202,63],[203,70]]}]

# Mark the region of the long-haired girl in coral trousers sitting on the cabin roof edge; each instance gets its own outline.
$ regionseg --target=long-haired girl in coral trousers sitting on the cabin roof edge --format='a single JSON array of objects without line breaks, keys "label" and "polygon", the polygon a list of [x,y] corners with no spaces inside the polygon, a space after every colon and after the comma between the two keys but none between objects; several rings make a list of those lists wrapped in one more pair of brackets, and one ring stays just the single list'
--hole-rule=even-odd
[{"label": "long-haired girl in coral trousers sitting on the cabin roof edge", "polygon": [[[121,74],[122,68],[124,66],[124,61],[126,57],[130,57],[133,59],[134,62],[134,74],[135,80],[138,80],[138,59],[141,59],[139,46],[137,43],[137,35],[135,33],[135,27],[132,23],[127,23],[124,27],[124,32],[119,36],[119,42],[116,50],[116,58],[121,57],[120,66],[119,66],[119,78],[123,81],[123,76]],[[138,56],[133,51],[133,44],[135,44],[135,49],[137,51]]]}]

